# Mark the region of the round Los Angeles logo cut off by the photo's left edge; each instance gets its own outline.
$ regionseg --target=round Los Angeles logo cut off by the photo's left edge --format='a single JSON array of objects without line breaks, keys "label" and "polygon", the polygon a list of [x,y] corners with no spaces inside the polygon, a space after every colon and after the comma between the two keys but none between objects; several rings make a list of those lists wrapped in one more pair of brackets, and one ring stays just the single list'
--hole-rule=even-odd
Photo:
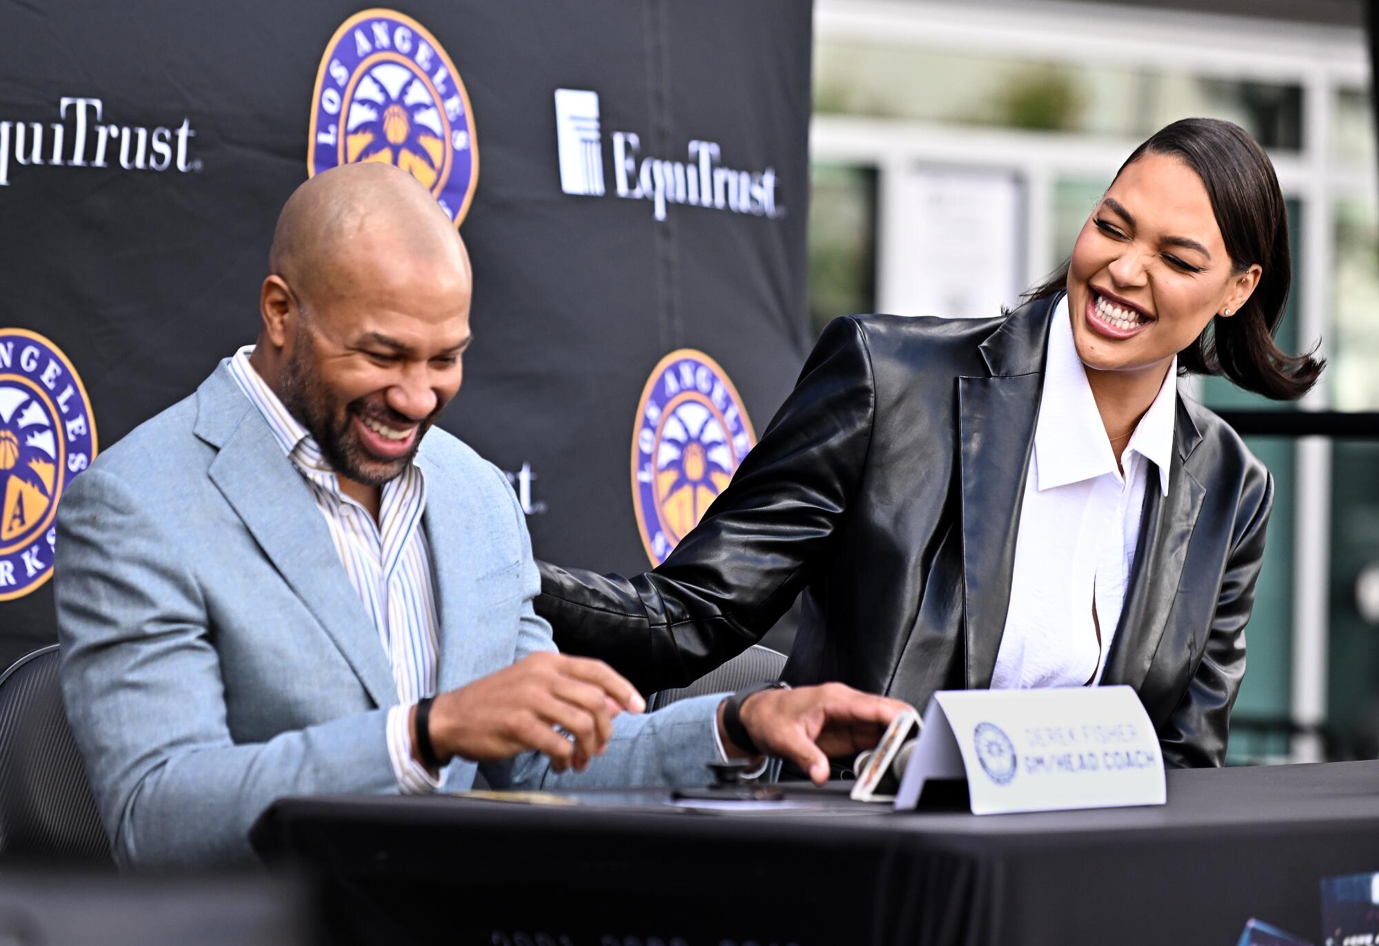
[{"label": "round Los Angeles logo cut off by the photo's left edge", "polygon": [[91,401],[37,332],[0,328],[0,601],[52,575],[62,491],[95,456]]}]

